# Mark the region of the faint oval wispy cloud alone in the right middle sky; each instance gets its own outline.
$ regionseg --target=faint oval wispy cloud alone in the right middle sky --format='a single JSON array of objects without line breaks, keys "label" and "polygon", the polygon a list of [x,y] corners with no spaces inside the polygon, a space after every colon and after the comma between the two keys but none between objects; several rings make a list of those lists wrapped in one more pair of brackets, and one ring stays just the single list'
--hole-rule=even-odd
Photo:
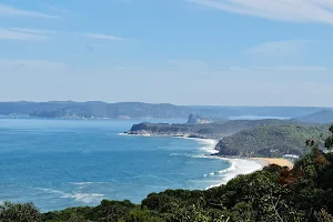
[{"label": "faint oval wispy cloud alone in the right middle sky", "polygon": [[271,41],[250,48],[246,52],[254,56],[291,56],[302,53],[314,43],[313,40]]}]

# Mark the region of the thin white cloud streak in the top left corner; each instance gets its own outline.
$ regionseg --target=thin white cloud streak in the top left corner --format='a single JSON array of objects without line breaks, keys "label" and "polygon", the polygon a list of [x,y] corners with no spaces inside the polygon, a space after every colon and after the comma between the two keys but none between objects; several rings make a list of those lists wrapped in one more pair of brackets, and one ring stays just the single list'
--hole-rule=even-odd
[{"label": "thin white cloud streak in the top left corner", "polygon": [[6,17],[36,17],[36,18],[44,18],[44,19],[58,19],[59,17],[37,12],[37,11],[28,11],[16,9],[11,6],[0,4],[0,16]]}]

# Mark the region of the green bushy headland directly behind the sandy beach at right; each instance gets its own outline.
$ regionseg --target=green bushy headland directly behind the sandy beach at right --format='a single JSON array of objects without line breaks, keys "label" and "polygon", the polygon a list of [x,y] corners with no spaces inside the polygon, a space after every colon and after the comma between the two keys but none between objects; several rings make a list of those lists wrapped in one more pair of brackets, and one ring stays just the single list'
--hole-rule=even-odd
[{"label": "green bushy headland directly behind the sandy beach at right", "polygon": [[262,125],[222,139],[216,150],[219,155],[241,158],[301,155],[307,150],[304,141],[329,137],[327,128],[327,125],[295,124]]}]

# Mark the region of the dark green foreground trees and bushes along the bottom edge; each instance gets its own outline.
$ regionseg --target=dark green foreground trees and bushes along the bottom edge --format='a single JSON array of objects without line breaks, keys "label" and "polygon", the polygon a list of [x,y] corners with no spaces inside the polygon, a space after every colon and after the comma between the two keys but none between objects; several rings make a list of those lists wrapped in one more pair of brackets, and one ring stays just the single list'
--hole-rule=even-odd
[{"label": "dark green foreground trees and bushes along the bottom edge", "polygon": [[[333,147],[333,127],[330,131],[327,149]],[[306,140],[306,144],[311,152],[293,169],[269,165],[206,191],[167,190],[149,194],[139,205],[130,201],[102,201],[98,206],[44,214],[30,203],[4,203],[0,221],[332,222],[333,153],[322,152],[321,143],[314,140]]]}]

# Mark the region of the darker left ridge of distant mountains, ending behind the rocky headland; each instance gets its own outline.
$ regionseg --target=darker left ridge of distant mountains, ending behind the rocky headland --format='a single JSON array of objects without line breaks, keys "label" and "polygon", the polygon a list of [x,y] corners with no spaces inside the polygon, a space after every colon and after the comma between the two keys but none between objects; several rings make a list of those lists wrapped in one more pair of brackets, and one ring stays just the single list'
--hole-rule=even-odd
[{"label": "darker left ridge of distant mountains, ending behind the rocky headland", "polygon": [[186,119],[193,110],[142,102],[0,102],[0,114],[38,118]]}]

